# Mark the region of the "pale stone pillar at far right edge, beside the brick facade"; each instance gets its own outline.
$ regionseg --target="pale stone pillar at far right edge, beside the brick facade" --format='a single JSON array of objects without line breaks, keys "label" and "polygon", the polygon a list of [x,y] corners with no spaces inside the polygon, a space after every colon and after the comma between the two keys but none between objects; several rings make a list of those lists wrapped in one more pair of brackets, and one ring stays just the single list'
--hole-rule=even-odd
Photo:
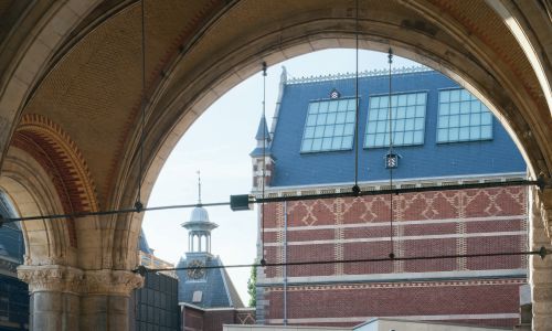
[{"label": "pale stone pillar at far right edge, beside the brick facade", "polygon": [[[530,249],[552,248],[552,190],[533,189],[530,195]],[[529,261],[532,296],[532,329],[545,331],[552,328],[552,255],[542,259],[532,255]]]}]

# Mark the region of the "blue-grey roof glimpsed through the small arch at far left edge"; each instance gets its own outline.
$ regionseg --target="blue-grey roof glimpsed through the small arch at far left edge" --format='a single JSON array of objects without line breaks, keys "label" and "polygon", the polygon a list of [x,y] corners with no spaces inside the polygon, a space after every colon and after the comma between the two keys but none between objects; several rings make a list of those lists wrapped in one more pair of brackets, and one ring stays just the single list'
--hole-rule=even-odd
[{"label": "blue-grey roof glimpsed through the small arch at far left edge", "polygon": [[[17,216],[2,191],[0,191],[0,214],[6,218]],[[15,223],[7,223],[0,227],[0,258],[9,257],[23,263],[24,249],[23,234]]]}]

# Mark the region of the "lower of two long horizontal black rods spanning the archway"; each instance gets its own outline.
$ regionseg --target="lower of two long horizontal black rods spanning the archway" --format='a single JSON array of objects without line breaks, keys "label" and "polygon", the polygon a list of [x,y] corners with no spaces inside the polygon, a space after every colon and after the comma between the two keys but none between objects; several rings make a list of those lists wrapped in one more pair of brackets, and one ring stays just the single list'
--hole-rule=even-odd
[{"label": "lower of two long horizontal black rods spanning the archway", "polygon": [[251,267],[283,267],[283,266],[307,266],[307,265],[330,265],[330,264],[355,264],[355,263],[379,263],[394,260],[427,260],[427,259],[447,259],[447,258],[473,258],[473,257],[498,257],[498,256],[519,256],[519,255],[539,255],[541,258],[546,257],[552,252],[545,247],[539,250],[529,252],[498,252],[498,253],[481,253],[481,254],[458,254],[458,255],[428,255],[428,256],[403,256],[403,257],[373,257],[373,258],[354,258],[340,260],[309,260],[309,261],[286,261],[286,263],[266,263],[266,264],[245,264],[230,266],[203,266],[203,267],[176,267],[176,268],[137,268],[134,271],[140,273],[146,269],[146,273],[159,271],[178,271],[190,269],[231,269],[231,268],[251,268]]}]

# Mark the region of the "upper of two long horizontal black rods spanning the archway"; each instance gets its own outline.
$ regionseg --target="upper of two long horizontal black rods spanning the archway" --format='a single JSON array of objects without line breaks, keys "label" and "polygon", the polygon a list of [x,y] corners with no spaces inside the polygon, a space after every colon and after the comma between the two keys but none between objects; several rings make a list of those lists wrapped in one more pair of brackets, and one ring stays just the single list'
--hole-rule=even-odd
[{"label": "upper of two long horizontal black rods spanning the archway", "polygon": [[[362,191],[359,194],[354,192],[336,192],[336,193],[321,193],[321,194],[306,194],[306,195],[295,195],[295,196],[274,196],[274,197],[259,197],[255,199],[250,196],[250,202],[252,204],[258,203],[269,203],[269,202],[283,202],[283,201],[308,201],[317,199],[336,199],[336,197],[351,197],[351,196],[364,196],[364,195],[385,195],[385,194],[405,194],[405,193],[418,193],[418,192],[432,192],[432,191],[455,191],[455,190],[470,190],[470,189],[486,189],[486,188],[502,188],[502,186],[540,186],[549,188],[552,186],[550,182],[544,179],[539,178],[537,181],[530,180],[519,180],[519,181],[506,181],[506,182],[487,182],[487,183],[470,183],[470,184],[456,184],[446,186],[421,186],[421,188],[404,188],[404,189],[384,189],[384,190],[373,190],[373,191]],[[202,203],[203,206],[222,206],[231,205],[230,202],[212,202]],[[145,207],[142,211],[163,211],[163,210],[178,210],[178,209],[191,209],[197,207],[198,204],[176,204],[176,205],[164,205],[164,206],[152,206]],[[112,211],[99,211],[99,212],[85,212],[85,213],[74,213],[74,214],[50,214],[50,215],[35,215],[35,216],[24,216],[24,217],[4,217],[4,223],[20,222],[20,221],[36,221],[36,220],[56,220],[56,218],[78,218],[85,216],[98,216],[98,215],[114,215],[114,214],[125,214],[125,213],[136,213],[138,212],[136,207],[132,209],[121,209]]]}]

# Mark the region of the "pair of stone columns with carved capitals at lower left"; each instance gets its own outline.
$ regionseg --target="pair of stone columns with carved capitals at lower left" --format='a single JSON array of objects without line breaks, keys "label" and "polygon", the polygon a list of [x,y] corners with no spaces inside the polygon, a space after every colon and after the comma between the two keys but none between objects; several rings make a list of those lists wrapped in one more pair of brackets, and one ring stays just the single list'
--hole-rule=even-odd
[{"label": "pair of stone columns with carved capitals at lower left", "polygon": [[20,266],[31,292],[31,330],[128,330],[129,296],[144,278],[126,270]]}]

